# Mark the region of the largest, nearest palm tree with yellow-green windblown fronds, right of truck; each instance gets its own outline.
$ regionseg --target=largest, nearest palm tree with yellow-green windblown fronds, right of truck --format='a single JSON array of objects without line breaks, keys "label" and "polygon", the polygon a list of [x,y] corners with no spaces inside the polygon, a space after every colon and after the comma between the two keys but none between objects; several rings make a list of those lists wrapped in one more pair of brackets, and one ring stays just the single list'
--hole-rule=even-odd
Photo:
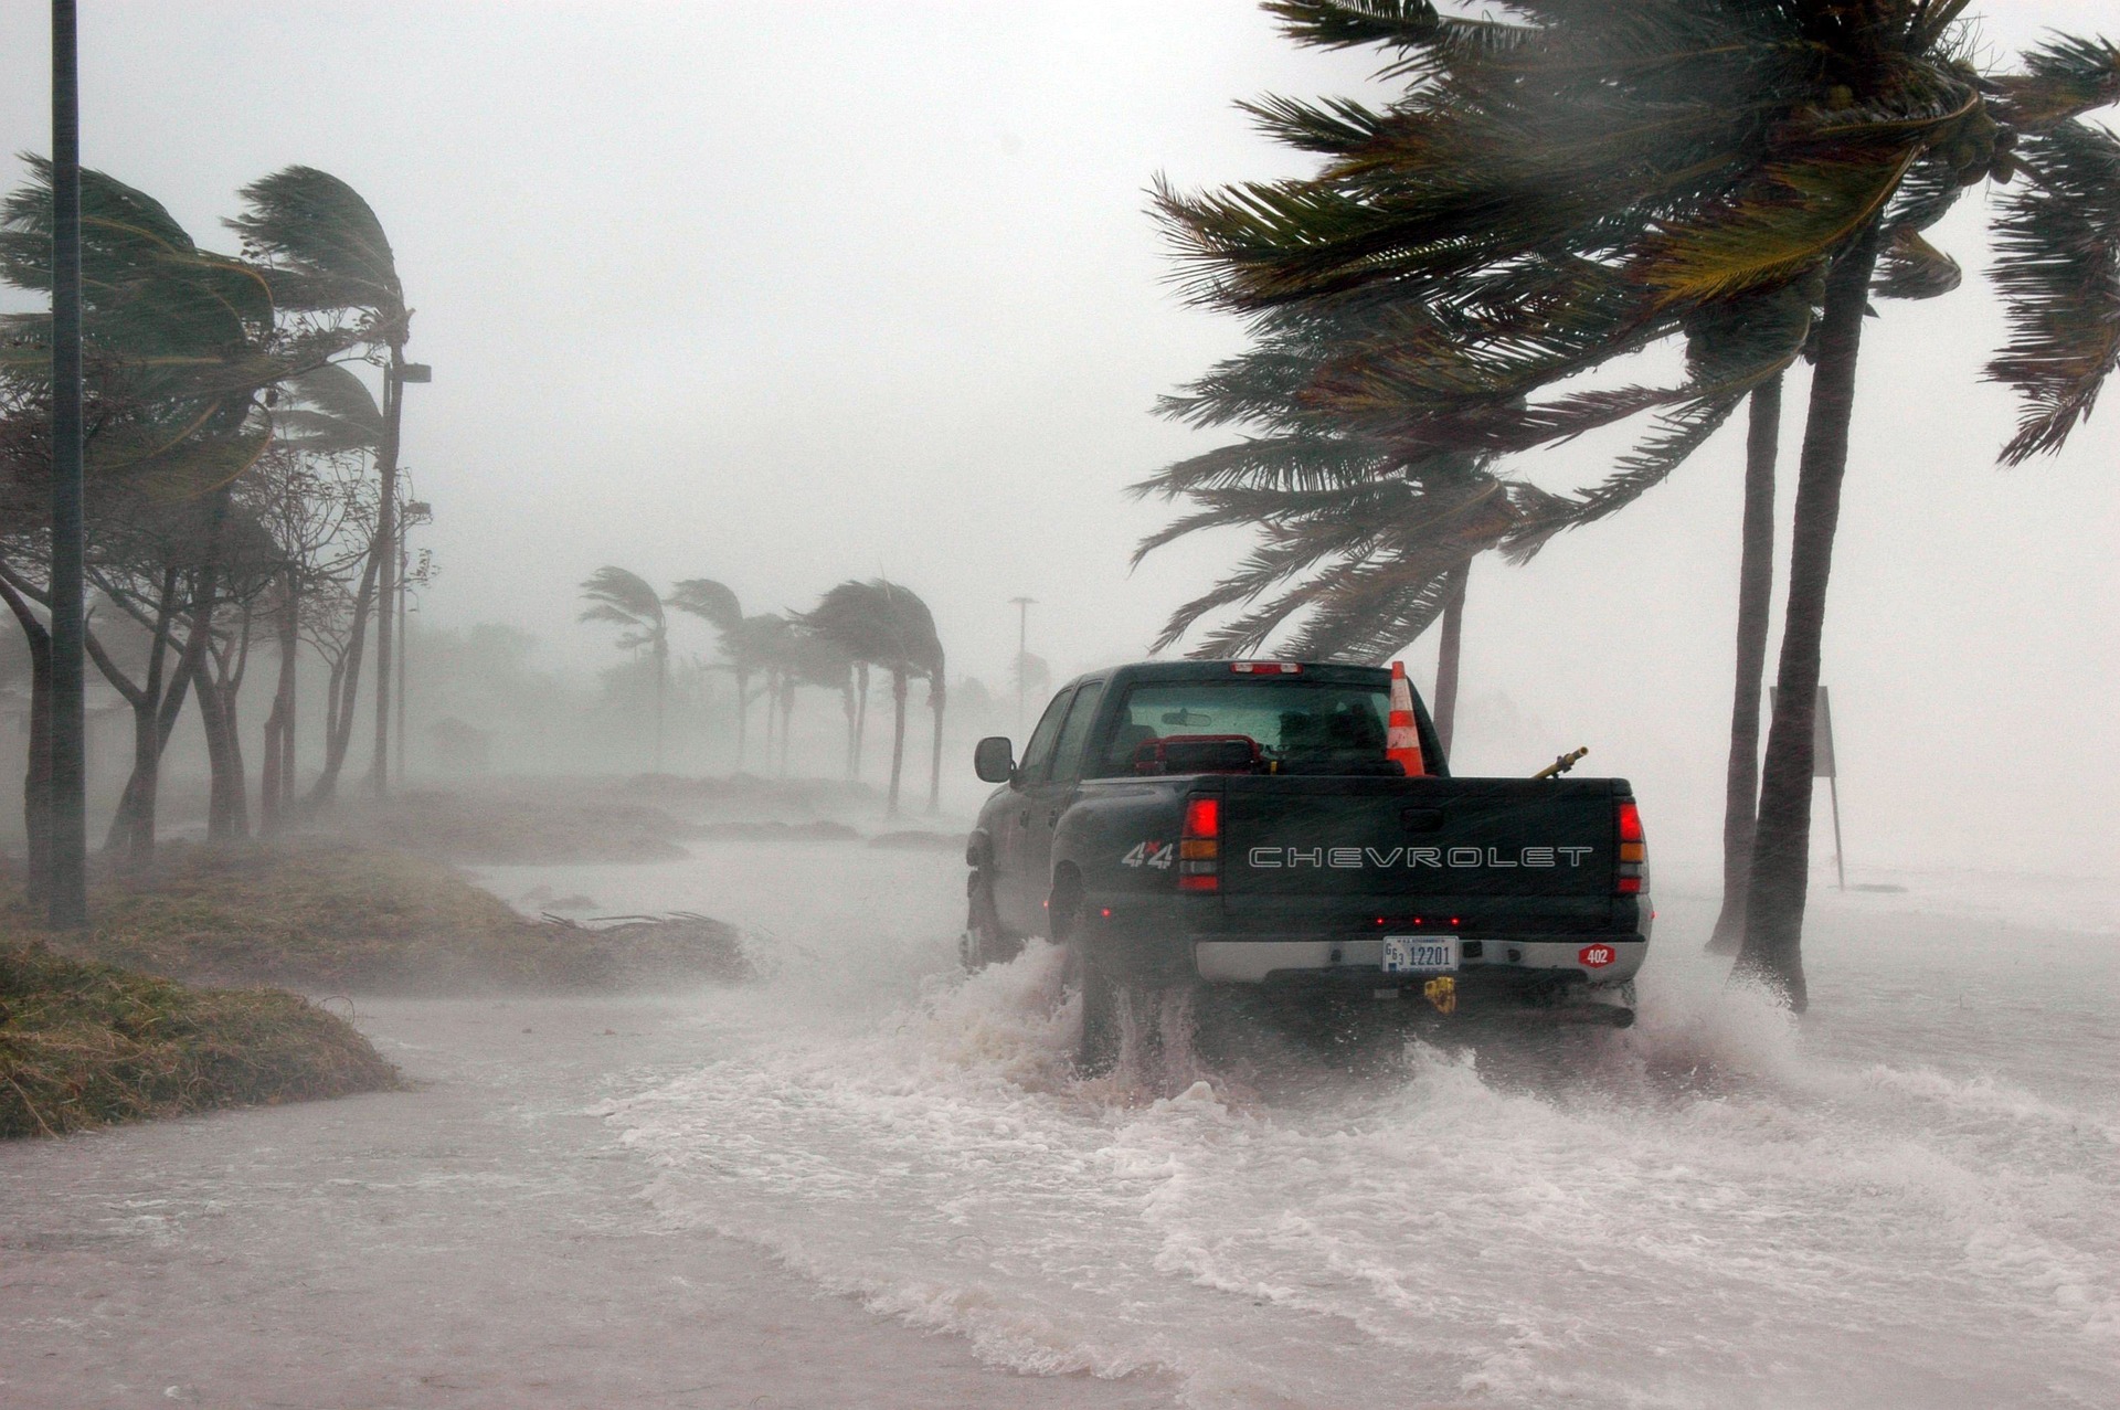
[{"label": "largest, nearest palm tree with yellow-green windblown fronds, right of truck", "polygon": [[[1412,0],[1270,8],[1306,42],[1395,47],[1412,76],[1406,98],[1382,112],[1259,104],[1285,140],[1327,155],[1323,174],[1191,199],[1164,191],[1162,210],[1208,301],[1257,312],[1367,290],[1433,329],[1342,380],[1353,413],[1378,390],[1448,388],[1473,422],[1507,430],[1526,390],[1738,297],[1802,290],[1806,312],[1821,305],[1741,956],[1802,1007],[1810,717],[1872,280],[1955,280],[1921,231],[1961,187],[2020,170],[2048,184],[2063,142],[2112,146],[2075,119],[2120,98],[2120,51],[2052,40],[2025,74],[1982,74],[1961,53],[1963,0],[1526,0],[1509,6],[1520,23],[1448,19]],[[2027,242],[2018,269],[2054,293],[2031,250],[2054,257],[2044,242],[2059,223],[2016,229]],[[2097,242],[2088,263],[2103,267],[2112,240]],[[1993,375],[2033,401],[2012,443],[2029,454],[2059,443],[2112,358],[2086,356],[2109,341],[2042,322],[2022,290],[2018,307],[2039,373],[2020,377],[2027,360],[2006,356]],[[2071,335],[2090,341],[2067,343]],[[1785,346],[1755,360],[1745,392],[1783,365]],[[1728,396],[1696,394],[1666,413],[1660,435],[1702,435],[1730,409]],[[1628,479],[1622,469],[1582,496],[1586,509]]]}]

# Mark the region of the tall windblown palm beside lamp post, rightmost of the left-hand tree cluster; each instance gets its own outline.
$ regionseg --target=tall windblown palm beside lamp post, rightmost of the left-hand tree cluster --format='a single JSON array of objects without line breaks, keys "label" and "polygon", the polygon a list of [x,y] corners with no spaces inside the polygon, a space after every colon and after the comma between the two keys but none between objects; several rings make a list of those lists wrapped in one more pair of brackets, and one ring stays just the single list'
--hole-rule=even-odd
[{"label": "tall windblown palm beside lamp post, rightmost of the left-hand tree cluster", "polygon": [[[356,314],[350,331],[384,348],[384,439],[375,458],[382,498],[375,515],[377,598],[396,602],[396,471],[405,411],[405,339],[411,310],[399,282],[396,257],[375,210],[343,180],[316,168],[290,165],[242,191],[248,210],[229,229],[244,240],[244,254],[269,269],[271,290],[286,310]],[[390,666],[392,613],[375,617],[375,759],[369,782],[390,789]],[[358,678],[356,678],[358,683]]]}]

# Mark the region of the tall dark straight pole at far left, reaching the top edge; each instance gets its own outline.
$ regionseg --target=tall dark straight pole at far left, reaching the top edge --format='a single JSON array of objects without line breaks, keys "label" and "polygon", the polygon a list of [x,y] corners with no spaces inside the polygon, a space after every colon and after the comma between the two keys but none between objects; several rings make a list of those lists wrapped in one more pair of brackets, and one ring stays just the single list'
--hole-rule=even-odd
[{"label": "tall dark straight pole at far left, reaching the top edge", "polygon": [[81,55],[74,0],[51,0],[51,829],[53,929],[89,922],[81,528]]}]

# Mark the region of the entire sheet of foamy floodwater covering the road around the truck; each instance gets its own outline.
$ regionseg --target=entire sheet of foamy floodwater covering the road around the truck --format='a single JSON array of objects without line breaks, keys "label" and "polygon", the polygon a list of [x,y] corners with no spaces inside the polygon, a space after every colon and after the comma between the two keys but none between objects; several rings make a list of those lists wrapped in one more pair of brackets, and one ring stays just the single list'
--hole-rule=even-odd
[{"label": "entire sheet of foamy floodwater covering the road around the truck", "polygon": [[1800,1022],[1666,897],[1626,1033],[1198,1014],[1081,1083],[1049,948],[956,973],[948,852],[479,876],[767,977],[365,1003],[424,1092],[0,1151],[0,1402],[2120,1399],[2109,886],[1825,893]]}]

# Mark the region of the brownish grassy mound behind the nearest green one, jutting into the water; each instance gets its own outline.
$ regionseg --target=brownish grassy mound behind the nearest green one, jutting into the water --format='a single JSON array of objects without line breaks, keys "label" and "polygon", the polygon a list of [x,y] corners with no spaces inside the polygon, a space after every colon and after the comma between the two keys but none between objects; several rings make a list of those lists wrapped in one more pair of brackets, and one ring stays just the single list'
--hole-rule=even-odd
[{"label": "brownish grassy mound behind the nearest green one, jutting into the water", "polygon": [[[57,941],[68,954],[193,984],[443,994],[748,973],[719,920],[538,924],[439,861],[322,840],[165,844],[148,871],[104,876],[89,910],[93,927]],[[34,935],[19,893],[0,912],[0,944],[8,935]]]}]

